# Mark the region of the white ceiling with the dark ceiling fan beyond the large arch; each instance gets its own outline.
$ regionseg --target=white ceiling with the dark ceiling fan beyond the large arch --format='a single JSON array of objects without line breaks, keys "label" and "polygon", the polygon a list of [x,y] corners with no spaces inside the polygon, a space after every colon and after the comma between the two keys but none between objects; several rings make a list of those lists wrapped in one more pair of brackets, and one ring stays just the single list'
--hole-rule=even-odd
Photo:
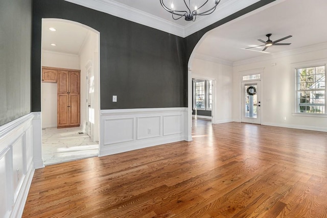
[{"label": "white ceiling with the dark ceiling fan beyond the large arch", "polygon": [[[326,9],[325,0],[283,1],[210,31],[196,53],[235,62],[326,42]],[[281,41],[292,44],[271,46],[265,51],[268,54],[256,52],[262,51],[263,47],[254,48],[253,51],[244,50],[246,47],[262,45],[258,39],[266,41],[268,33],[272,34],[270,39],[273,41],[292,35]]]}]

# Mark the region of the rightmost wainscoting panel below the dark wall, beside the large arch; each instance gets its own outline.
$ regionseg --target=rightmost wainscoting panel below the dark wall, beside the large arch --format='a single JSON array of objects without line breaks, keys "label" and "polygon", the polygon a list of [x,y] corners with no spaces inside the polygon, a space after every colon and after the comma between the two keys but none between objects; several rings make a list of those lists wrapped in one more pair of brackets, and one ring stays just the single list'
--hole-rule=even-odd
[{"label": "rightmost wainscoting panel below the dark wall, beside the large arch", "polygon": [[164,135],[179,134],[182,132],[182,115],[166,115],[164,116]]}]

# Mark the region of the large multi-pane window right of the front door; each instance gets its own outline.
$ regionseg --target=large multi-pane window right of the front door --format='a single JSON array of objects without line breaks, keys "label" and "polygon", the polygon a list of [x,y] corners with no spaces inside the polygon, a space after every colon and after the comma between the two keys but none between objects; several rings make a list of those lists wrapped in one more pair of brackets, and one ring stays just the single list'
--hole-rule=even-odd
[{"label": "large multi-pane window right of the front door", "polygon": [[325,114],[325,66],[296,69],[297,112]]}]

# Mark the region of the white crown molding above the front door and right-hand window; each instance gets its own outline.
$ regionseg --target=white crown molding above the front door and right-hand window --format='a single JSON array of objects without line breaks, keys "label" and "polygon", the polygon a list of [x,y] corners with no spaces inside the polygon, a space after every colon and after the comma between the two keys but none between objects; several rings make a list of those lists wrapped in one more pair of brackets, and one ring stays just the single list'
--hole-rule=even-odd
[{"label": "white crown molding above the front door and right-hand window", "polygon": [[285,51],[285,52],[279,52],[279,53],[274,53],[274,54],[271,53],[271,54],[267,54],[262,57],[249,58],[249,59],[245,59],[245,60],[241,60],[241,61],[235,61],[235,62],[233,62],[233,66],[240,66],[240,65],[261,62],[261,61],[269,61],[271,59],[283,58],[283,57],[287,57],[287,56],[299,55],[299,54],[303,54],[303,53],[314,52],[314,51],[325,50],[325,49],[327,49],[327,42],[313,44],[313,45],[309,45],[309,46],[305,46],[305,47],[300,47],[298,49]]}]

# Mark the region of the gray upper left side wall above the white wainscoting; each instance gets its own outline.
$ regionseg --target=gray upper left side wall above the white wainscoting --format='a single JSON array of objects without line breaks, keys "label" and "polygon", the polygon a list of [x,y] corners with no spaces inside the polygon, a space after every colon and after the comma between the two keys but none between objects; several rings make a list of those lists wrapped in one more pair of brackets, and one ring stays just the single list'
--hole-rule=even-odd
[{"label": "gray upper left side wall above the white wainscoting", "polygon": [[0,0],[0,126],[31,112],[32,0]]}]

